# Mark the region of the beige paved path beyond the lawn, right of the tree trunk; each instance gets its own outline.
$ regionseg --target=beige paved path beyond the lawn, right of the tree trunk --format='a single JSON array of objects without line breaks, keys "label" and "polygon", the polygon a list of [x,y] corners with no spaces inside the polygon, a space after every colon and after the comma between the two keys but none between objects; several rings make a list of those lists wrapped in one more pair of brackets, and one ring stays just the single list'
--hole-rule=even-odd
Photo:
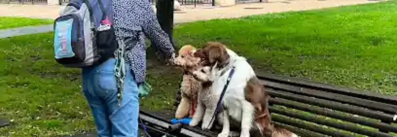
[{"label": "beige paved path beyond the lawn, right of the tree trunk", "polygon": [[[265,0],[264,0],[265,1]],[[238,18],[273,12],[303,11],[355,4],[375,3],[367,0],[269,0],[268,3],[239,4],[215,9],[186,9],[185,14],[175,14],[175,22],[192,22],[215,18]]]}]

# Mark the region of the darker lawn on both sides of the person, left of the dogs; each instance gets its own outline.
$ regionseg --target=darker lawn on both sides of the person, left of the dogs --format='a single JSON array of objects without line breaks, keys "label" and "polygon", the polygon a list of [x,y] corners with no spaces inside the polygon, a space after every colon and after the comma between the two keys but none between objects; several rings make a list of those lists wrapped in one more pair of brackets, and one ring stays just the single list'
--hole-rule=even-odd
[{"label": "darker lawn on both sides of the person, left of the dogs", "polygon": [[[12,126],[0,128],[0,136],[53,136],[95,129],[81,93],[80,70],[55,62],[52,35],[0,39],[5,45],[0,46],[0,117],[13,121]],[[172,108],[180,80],[179,73],[169,73],[171,69],[148,67],[153,91],[141,100],[142,108]]]}]

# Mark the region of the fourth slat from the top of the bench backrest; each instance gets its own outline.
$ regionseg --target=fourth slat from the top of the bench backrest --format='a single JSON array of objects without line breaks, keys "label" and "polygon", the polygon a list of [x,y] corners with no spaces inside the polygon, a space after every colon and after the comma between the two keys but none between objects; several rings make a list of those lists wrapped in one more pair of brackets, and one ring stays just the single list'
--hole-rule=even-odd
[{"label": "fourth slat from the top of the bench backrest", "polygon": [[327,117],[331,117],[331,118],[335,118],[335,119],[339,119],[339,120],[344,120],[344,121],[348,121],[348,122],[352,122],[352,123],[357,123],[357,124],[370,126],[370,127],[382,129],[385,131],[391,131],[391,132],[397,133],[397,126],[392,126],[390,124],[386,124],[386,123],[382,123],[382,122],[376,122],[376,121],[367,120],[364,118],[343,115],[340,113],[333,112],[331,110],[314,108],[314,107],[310,107],[308,105],[300,105],[300,104],[296,104],[294,101],[290,101],[290,100],[282,99],[282,98],[270,98],[269,102],[276,104],[276,105],[285,106],[288,108],[302,110],[302,111],[310,112],[310,113],[314,113],[314,114],[320,114],[323,116],[327,116]]}]

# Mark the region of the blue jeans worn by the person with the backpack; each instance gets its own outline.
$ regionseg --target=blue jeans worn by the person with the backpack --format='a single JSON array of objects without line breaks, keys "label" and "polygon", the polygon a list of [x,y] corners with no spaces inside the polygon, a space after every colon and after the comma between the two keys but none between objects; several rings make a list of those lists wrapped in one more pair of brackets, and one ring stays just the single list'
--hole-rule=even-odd
[{"label": "blue jeans worn by the person with the backpack", "polygon": [[137,136],[138,87],[128,65],[120,107],[114,75],[116,59],[82,69],[82,91],[90,105],[98,136]]}]

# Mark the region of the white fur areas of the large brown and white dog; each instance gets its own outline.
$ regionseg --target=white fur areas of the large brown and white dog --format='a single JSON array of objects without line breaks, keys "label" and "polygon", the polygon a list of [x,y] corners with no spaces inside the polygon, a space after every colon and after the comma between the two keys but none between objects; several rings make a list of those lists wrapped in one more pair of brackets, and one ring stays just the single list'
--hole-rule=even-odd
[{"label": "white fur areas of the large brown and white dog", "polygon": [[[222,104],[226,109],[223,113],[225,113],[223,117],[223,128],[218,136],[227,136],[230,133],[230,120],[229,118],[234,119],[237,122],[241,122],[241,133],[240,136],[249,137],[249,130],[251,129],[254,108],[245,99],[244,88],[247,85],[247,82],[252,77],[256,77],[252,67],[246,61],[244,57],[238,56],[235,52],[230,49],[227,49],[227,52],[230,56],[230,62],[228,66],[223,67],[222,69],[218,69],[215,64],[211,72],[206,72],[207,80],[212,81],[212,86],[210,87],[210,92],[216,98],[219,98],[224,85],[226,84],[226,80],[229,77],[230,71],[232,70],[232,66],[235,66],[234,75],[229,83],[228,88],[226,88],[225,94],[223,96]],[[207,68],[206,68],[207,69]],[[202,70],[198,70],[194,73],[197,75]],[[222,72],[225,72],[221,75]],[[193,74],[194,74],[193,73]],[[199,78],[201,76],[198,76]],[[206,79],[205,77],[202,77]],[[216,102],[218,99],[215,99]],[[215,102],[215,104],[216,104]],[[198,110],[198,109],[197,109]],[[212,114],[211,114],[212,116]],[[194,117],[193,117],[194,119]],[[204,118],[205,119],[205,118]],[[203,120],[204,121],[204,120]]]}]

